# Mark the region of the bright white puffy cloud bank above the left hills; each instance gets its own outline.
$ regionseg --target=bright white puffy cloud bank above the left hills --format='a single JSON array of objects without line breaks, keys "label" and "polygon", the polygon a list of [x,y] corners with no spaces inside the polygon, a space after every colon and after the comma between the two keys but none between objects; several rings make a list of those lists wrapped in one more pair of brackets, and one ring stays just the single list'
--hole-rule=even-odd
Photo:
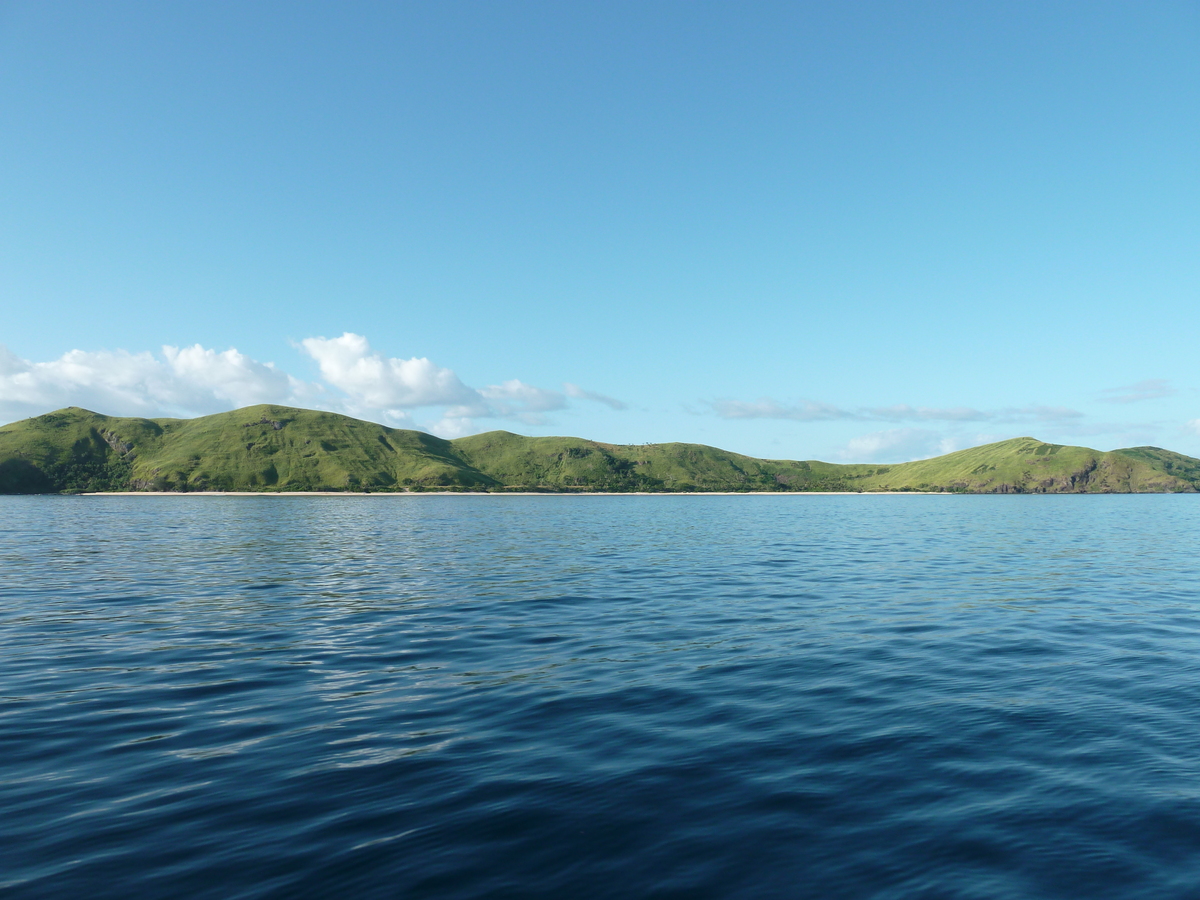
[{"label": "bright white puffy cloud bank above the left hills", "polygon": [[[571,400],[612,397],[564,384],[563,391],[512,378],[481,389],[428,359],[384,356],[362,335],[308,337],[298,348],[320,380],[305,382],[236,349],[164,346],[160,355],[127,350],[71,350],[49,362],[31,362],[0,346],[0,420],[13,421],[66,406],[112,415],[192,416],[254,403],[304,406],[406,427],[422,427],[414,410],[432,410],[430,431],[457,437],[475,419],[511,419],[542,425],[546,414]],[[440,418],[438,409],[440,408]]]}]

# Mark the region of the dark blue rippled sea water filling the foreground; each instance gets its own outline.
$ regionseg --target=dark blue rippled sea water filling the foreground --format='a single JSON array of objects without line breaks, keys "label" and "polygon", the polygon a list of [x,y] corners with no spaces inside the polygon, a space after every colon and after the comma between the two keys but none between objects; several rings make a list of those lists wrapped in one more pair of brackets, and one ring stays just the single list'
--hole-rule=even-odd
[{"label": "dark blue rippled sea water filling the foreground", "polygon": [[1200,895],[1200,498],[0,498],[0,894]]}]

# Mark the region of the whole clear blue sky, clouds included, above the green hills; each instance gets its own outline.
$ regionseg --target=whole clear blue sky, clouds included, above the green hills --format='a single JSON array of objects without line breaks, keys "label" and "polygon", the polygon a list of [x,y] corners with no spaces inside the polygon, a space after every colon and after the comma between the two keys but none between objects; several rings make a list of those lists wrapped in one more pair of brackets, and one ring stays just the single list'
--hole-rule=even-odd
[{"label": "whole clear blue sky, clouds included, above the green hills", "polygon": [[1200,456],[1198,47],[1195,2],[0,2],[0,419]]}]

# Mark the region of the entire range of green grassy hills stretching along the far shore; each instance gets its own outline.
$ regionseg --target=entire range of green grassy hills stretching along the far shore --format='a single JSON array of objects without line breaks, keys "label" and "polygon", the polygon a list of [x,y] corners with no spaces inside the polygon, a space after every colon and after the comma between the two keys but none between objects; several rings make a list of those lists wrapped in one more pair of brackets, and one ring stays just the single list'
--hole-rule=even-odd
[{"label": "entire range of green grassy hills stretching along the far shore", "polygon": [[0,493],[76,491],[1194,492],[1200,460],[1015,438],[896,466],[756,460],[702,444],[504,431],[443,440],[335,413],[256,406],[199,419],[68,408],[0,427]]}]

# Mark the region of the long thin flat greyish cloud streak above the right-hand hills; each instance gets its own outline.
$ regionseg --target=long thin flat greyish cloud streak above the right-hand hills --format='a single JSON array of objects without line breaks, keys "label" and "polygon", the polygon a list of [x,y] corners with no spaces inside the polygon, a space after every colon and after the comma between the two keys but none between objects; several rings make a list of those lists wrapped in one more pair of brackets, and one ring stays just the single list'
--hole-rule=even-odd
[{"label": "long thin flat greyish cloud streak above the right-hand hills", "polygon": [[722,419],[785,419],[798,422],[830,420],[851,421],[1063,421],[1079,419],[1082,413],[1066,407],[1008,407],[1004,409],[973,409],[971,407],[918,407],[898,403],[890,407],[863,407],[844,409],[829,403],[802,401],[799,403],[779,403],[770,398],[754,402],[740,400],[718,400],[709,403],[713,412]]}]

